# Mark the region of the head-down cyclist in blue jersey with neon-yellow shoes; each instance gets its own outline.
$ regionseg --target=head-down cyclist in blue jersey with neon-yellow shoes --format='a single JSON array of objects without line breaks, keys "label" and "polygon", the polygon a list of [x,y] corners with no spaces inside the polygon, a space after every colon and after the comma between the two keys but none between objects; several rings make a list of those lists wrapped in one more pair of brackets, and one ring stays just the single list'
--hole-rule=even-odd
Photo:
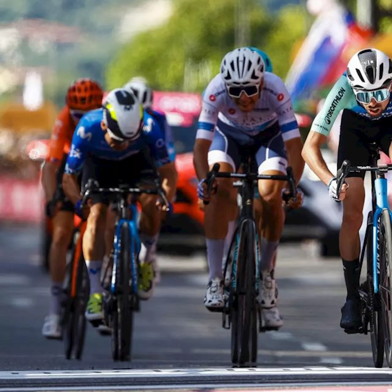
[{"label": "head-down cyclist in blue jersey with neon-yellow shoes", "polygon": [[[136,96],[124,89],[114,89],[101,109],[86,114],[74,133],[63,176],[64,192],[75,205],[78,214],[87,216],[83,237],[83,255],[90,278],[90,298],[86,318],[102,320],[102,287],[100,272],[105,254],[105,223],[110,199],[102,194],[93,195],[89,207],[82,209],[80,187],[75,175],[82,171],[83,187],[90,178],[102,187],[116,187],[119,183],[133,185],[142,178],[152,178],[156,168],[162,177],[163,189],[171,201],[174,187],[167,176],[170,163],[165,141],[155,120],[143,111]],[[147,129],[146,124],[151,124]],[[82,170],[83,169],[83,170]],[[175,184],[174,184],[175,185]],[[154,246],[160,226],[160,212],[165,208],[158,196],[143,194],[138,198],[142,206],[140,239],[147,253]],[[151,259],[140,268],[141,299],[151,297],[154,279]]]}]

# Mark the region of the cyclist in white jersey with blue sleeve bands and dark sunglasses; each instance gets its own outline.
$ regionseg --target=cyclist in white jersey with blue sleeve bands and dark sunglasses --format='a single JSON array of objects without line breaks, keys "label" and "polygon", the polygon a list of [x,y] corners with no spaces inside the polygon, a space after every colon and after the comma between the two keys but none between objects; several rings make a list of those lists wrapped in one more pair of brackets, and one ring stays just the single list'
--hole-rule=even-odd
[{"label": "cyclist in white jersey with blue sleeve bands and dark sunglasses", "polygon": [[[283,81],[275,74],[265,72],[263,58],[257,52],[241,47],[227,53],[220,74],[207,86],[199,118],[194,145],[199,198],[206,200],[205,178],[214,163],[220,163],[221,171],[234,172],[240,165],[241,154],[245,153],[255,155],[260,174],[285,174],[289,161],[299,181],[304,166],[301,148],[298,124]],[[204,303],[209,310],[224,305],[223,247],[232,211],[237,210],[232,181],[218,179],[216,183],[216,194],[205,207],[210,273]],[[283,325],[276,307],[276,282],[270,276],[284,223],[283,187],[283,181],[258,183],[263,203],[260,304],[265,325],[270,328]]]}]

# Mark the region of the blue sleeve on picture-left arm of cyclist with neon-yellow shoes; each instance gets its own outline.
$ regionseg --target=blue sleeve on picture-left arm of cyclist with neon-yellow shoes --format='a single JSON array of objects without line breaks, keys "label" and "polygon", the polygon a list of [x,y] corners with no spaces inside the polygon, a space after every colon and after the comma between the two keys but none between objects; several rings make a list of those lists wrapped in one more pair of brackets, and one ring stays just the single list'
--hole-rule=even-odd
[{"label": "blue sleeve on picture-left arm of cyclist with neon-yellow shoes", "polygon": [[67,174],[77,174],[82,170],[83,163],[86,160],[89,143],[88,138],[82,137],[86,133],[82,119],[73,134],[71,149],[69,150],[67,162],[65,163],[65,173]]}]

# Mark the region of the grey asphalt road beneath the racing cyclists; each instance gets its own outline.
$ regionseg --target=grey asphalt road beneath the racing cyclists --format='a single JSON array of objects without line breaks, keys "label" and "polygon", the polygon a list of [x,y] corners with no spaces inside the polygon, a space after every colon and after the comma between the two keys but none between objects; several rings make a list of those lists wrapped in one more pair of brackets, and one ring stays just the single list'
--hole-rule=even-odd
[{"label": "grey asphalt road beneath the racing cyclists", "polygon": [[[0,390],[12,376],[7,371],[134,369],[127,377],[142,377],[134,372],[230,368],[230,331],[221,327],[220,314],[203,306],[207,274],[202,255],[160,256],[161,282],[136,314],[131,363],[114,363],[110,337],[100,336],[90,325],[82,361],[67,361],[61,341],[41,336],[49,276],[38,267],[39,236],[37,227],[0,228]],[[339,328],[345,299],[341,261],[319,258],[311,243],[284,244],[276,275],[285,325],[259,335],[261,369],[373,367],[370,336],[347,335]]]}]

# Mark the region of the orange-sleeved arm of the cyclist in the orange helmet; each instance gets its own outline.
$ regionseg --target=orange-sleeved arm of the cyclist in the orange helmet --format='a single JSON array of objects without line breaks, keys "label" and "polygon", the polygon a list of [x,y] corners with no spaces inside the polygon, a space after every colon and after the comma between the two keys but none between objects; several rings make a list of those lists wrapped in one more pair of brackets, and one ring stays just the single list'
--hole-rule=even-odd
[{"label": "orange-sleeved arm of the cyclist in the orange helmet", "polygon": [[54,123],[49,142],[49,154],[42,167],[42,187],[44,188],[46,201],[52,200],[56,191],[56,171],[64,155],[65,130],[64,122],[57,119]]}]

